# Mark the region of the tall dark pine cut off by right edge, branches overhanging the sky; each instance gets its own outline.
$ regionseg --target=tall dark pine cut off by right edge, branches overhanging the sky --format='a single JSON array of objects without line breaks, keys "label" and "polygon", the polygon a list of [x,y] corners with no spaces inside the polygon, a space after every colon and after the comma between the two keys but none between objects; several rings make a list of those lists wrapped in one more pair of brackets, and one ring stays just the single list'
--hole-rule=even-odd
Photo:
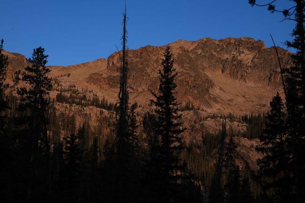
[{"label": "tall dark pine cut off by right edge, branches overhanging the sky", "polygon": [[[265,5],[256,4],[255,0],[249,0],[251,6],[267,6],[271,13],[281,12],[284,20],[292,20],[295,27],[291,33],[293,40],[286,42],[288,47],[296,49],[296,53],[291,54],[293,66],[288,69],[282,69],[281,73],[286,75],[283,89],[286,96],[286,142],[289,143],[292,153],[292,163],[287,162],[286,165],[293,166],[294,182],[290,184],[295,193],[295,201],[300,203],[305,201],[305,1],[293,0],[294,6],[289,9],[278,10],[275,1]],[[294,17],[293,17],[294,16]],[[279,59],[280,60],[280,59]],[[285,170],[285,168],[283,168]],[[283,188],[284,189],[284,188]],[[291,190],[290,190],[291,191]]]}]

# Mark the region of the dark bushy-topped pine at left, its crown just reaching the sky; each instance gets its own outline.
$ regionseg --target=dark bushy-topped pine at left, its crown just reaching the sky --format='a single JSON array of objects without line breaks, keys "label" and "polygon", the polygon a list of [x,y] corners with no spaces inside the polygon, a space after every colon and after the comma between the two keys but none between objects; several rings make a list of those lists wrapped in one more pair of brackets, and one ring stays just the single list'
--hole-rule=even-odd
[{"label": "dark bushy-topped pine at left, its crown just reaching the sky", "polygon": [[[24,112],[24,124],[28,126],[25,131],[27,132],[26,136],[24,135],[28,143],[28,160],[29,168],[31,168],[27,191],[28,201],[33,201],[39,196],[46,198],[46,195],[38,194],[38,191],[42,188],[46,188],[45,192],[50,195],[50,145],[47,114],[50,108],[49,91],[52,84],[51,78],[48,77],[50,70],[46,66],[48,56],[44,54],[44,51],[42,47],[34,49],[32,58],[28,59],[32,65],[25,67],[25,72],[22,74],[22,81],[28,87],[17,90],[17,93],[21,96],[19,109]],[[37,176],[37,174],[40,174],[37,171],[42,171],[42,177]],[[37,178],[43,179],[43,181],[39,181],[45,182],[45,186],[34,184],[35,181],[38,181]]]}]

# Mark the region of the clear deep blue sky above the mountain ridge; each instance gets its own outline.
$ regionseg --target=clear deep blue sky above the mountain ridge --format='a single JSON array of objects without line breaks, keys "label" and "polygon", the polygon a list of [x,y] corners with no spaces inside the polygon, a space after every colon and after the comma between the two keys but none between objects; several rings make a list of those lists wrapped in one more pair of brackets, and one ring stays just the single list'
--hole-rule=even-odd
[{"label": "clear deep blue sky above the mountain ridge", "polygon": [[[267,0],[257,0],[257,3]],[[276,8],[287,8],[279,0]],[[106,58],[120,46],[124,0],[1,0],[0,38],[27,58],[42,46],[49,65]],[[127,0],[128,46],[165,45],[179,39],[252,37],[271,46],[290,39],[292,21],[248,0]]]}]

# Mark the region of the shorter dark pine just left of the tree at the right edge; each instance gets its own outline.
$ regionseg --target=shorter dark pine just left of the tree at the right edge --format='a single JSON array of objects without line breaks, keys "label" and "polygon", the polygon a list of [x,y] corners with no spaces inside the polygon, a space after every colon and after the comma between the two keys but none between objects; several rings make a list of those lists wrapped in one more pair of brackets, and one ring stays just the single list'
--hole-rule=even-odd
[{"label": "shorter dark pine just left of the tree at the right edge", "polygon": [[287,141],[284,104],[279,93],[270,101],[270,112],[267,113],[267,122],[264,133],[259,137],[257,151],[264,157],[258,159],[261,177],[270,181],[265,183],[264,189],[275,191],[275,198],[280,202],[293,202],[293,167],[291,166],[292,152]]}]

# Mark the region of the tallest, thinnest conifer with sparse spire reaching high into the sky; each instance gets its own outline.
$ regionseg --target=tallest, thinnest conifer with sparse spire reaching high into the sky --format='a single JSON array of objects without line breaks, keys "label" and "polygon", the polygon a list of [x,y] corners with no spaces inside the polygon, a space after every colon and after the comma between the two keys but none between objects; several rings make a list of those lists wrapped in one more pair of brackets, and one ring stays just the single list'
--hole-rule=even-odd
[{"label": "tallest, thinnest conifer with sparse spire reaching high into the sky", "polygon": [[116,119],[116,156],[115,158],[115,191],[114,202],[134,201],[136,197],[130,191],[132,177],[132,157],[131,157],[131,133],[129,125],[129,93],[128,93],[128,48],[127,48],[127,14],[126,5],[123,14],[123,34],[122,34],[122,50],[119,80],[119,104],[117,108]]}]

